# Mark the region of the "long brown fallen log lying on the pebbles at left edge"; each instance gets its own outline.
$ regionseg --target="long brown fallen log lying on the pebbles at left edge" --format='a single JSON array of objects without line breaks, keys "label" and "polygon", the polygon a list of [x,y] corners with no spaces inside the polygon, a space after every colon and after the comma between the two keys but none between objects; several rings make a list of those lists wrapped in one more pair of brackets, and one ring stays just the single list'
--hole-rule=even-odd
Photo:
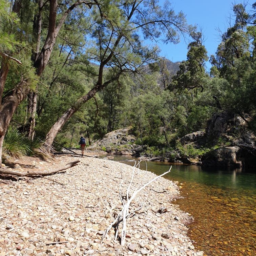
[{"label": "long brown fallen log lying on the pebbles at left edge", "polygon": [[19,171],[14,171],[14,170],[9,170],[9,169],[0,169],[0,174],[9,174],[9,175],[15,175],[15,176],[20,176],[20,177],[24,177],[24,176],[47,176],[47,175],[51,175],[63,170],[66,170],[68,168],[71,168],[73,166],[78,165],[80,161],[75,161],[75,162],[71,162],[66,164],[65,166],[56,168],[54,170],[48,170],[48,171],[39,171],[37,170],[37,172],[34,171],[27,171],[27,172],[19,172]]}]

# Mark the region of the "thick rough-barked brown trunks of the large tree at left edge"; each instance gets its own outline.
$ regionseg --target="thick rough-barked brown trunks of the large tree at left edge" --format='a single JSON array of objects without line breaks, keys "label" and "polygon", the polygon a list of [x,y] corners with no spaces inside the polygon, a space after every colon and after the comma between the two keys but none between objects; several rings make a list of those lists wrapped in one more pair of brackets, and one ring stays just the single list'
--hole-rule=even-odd
[{"label": "thick rough-barked brown trunks of the large tree at left edge", "polygon": [[[19,13],[20,9],[22,8],[21,7],[22,5],[17,3],[17,1],[15,1],[14,7],[13,7],[13,12],[15,12],[15,13]],[[49,5],[48,5],[48,1],[44,2],[43,4],[41,1],[38,1],[37,3],[39,5],[38,16],[37,16],[37,29],[34,30],[34,33],[37,34],[38,40],[36,41],[36,47],[35,47],[36,50],[32,51],[32,56],[31,56],[31,60],[34,61],[33,66],[35,68],[34,69],[35,71],[30,72],[30,75],[32,76],[32,73],[34,73],[38,77],[40,77],[41,74],[43,73],[43,70],[45,69],[47,63],[49,62],[50,55],[54,48],[59,31],[60,31],[64,21],[66,20],[67,16],[69,15],[69,13],[80,4],[86,4],[89,8],[91,8],[91,6],[93,4],[95,4],[95,2],[89,2],[89,1],[74,2],[72,5],[70,5],[68,8],[66,8],[64,10],[64,12],[62,12],[60,14],[59,14],[57,0],[50,0]],[[47,31],[47,36],[45,38],[43,46],[42,46],[41,50],[39,50],[40,49],[39,38],[40,38],[40,34],[41,34],[40,13],[42,11],[42,7],[45,7],[46,5],[48,5],[47,7],[49,8],[48,25],[47,25],[48,31]],[[64,6],[65,5],[66,4],[64,4]],[[58,25],[56,24],[57,16],[60,16]],[[23,31],[21,31],[20,34],[23,35]],[[3,35],[6,35],[6,33],[5,34],[4,34],[4,32],[1,33],[0,37],[2,37]],[[35,36],[33,36],[33,37],[35,37]],[[37,51],[37,50],[39,50],[39,51]],[[4,52],[1,52],[1,56],[3,56],[3,54],[4,54]],[[8,59],[12,59],[11,56],[10,57],[5,56],[5,57],[8,57]],[[5,84],[4,80],[5,80],[5,77],[7,77],[6,73],[8,73],[7,69],[5,68],[5,65],[6,65],[5,63],[6,63],[5,59],[2,59],[1,68],[0,68],[2,70],[0,73],[0,75],[1,75],[0,81],[2,81],[1,88],[4,87],[4,84]],[[1,106],[0,106],[0,157],[2,154],[2,144],[3,144],[3,140],[4,140],[4,135],[9,126],[10,120],[12,119],[12,116],[13,116],[16,108],[18,107],[18,105],[26,98],[27,94],[29,93],[30,84],[31,84],[30,82],[35,80],[35,76],[34,77],[31,77],[31,76],[21,76],[21,80],[17,83],[17,85],[14,88],[9,90],[8,93],[5,94],[4,98],[2,98],[2,95],[0,96],[0,98],[2,99]],[[1,89],[0,91],[3,91],[3,89]],[[36,104],[34,104],[34,102],[36,102],[36,98],[35,98],[35,101],[33,100],[33,110],[31,110],[33,113],[35,112],[35,109],[36,109]],[[33,121],[33,123],[34,123],[34,121]],[[1,161],[0,161],[0,163],[1,163]]]}]

